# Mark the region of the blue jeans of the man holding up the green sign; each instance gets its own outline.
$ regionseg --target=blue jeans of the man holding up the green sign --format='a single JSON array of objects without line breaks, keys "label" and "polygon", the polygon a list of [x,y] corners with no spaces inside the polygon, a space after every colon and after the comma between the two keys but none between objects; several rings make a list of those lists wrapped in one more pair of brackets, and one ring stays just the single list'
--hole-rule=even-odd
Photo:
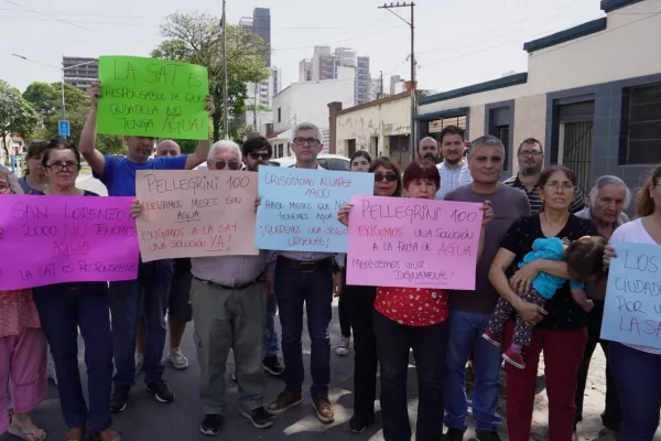
[{"label": "blue jeans of the man holding up the green sign", "polygon": [[165,345],[165,311],[170,282],[174,272],[172,259],[140,262],[137,280],[110,282],[110,312],[115,347],[115,386],[133,386],[136,372],[136,333],[140,294],[144,295],[144,383],[160,379],[165,370],[161,364]]}]

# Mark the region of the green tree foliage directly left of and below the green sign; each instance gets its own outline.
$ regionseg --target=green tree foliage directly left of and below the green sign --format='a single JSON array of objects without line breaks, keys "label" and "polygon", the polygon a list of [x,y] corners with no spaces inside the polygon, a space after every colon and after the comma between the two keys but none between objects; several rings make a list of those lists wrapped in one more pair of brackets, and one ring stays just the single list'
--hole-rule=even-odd
[{"label": "green tree foliage directly left of and below the green sign", "polygon": [[[32,104],[42,122],[42,127],[30,133],[30,139],[56,138],[57,121],[62,119],[62,83],[32,83],[23,93],[23,98]],[[89,97],[65,83],[64,98],[66,120],[69,121],[69,139],[77,144],[89,112]],[[120,154],[124,151],[124,144],[121,137],[101,135],[97,139],[97,149],[106,154]]]}]

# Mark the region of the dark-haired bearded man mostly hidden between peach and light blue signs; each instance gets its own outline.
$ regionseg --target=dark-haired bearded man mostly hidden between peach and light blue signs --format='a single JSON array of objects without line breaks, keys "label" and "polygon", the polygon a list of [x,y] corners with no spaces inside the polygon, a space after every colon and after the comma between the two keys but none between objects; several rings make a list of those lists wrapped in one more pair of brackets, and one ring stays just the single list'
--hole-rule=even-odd
[{"label": "dark-haired bearded man mostly hidden between peach and light blue signs", "polygon": [[[243,142],[241,149],[243,163],[249,172],[257,172],[260,166],[269,166],[269,160],[273,154],[273,147],[263,137],[252,137]],[[271,277],[275,277],[275,266],[270,266]],[[278,331],[275,330],[275,313],[278,312],[278,300],[275,294],[269,295],[267,300],[267,329],[264,332],[264,358],[262,368],[269,374],[280,377],[284,374],[284,367],[278,358],[280,346],[278,345]]]}]

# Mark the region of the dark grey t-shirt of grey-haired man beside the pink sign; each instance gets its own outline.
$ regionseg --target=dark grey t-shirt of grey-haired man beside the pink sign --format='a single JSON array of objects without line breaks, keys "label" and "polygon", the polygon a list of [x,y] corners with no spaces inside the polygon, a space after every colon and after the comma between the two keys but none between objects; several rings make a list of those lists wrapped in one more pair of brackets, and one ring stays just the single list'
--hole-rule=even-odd
[{"label": "dark grey t-shirt of grey-haired man beside the pink sign", "polygon": [[489,268],[500,248],[500,241],[514,220],[530,216],[530,203],[525,194],[507,185],[499,185],[491,194],[473,191],[473,185],[465,185],[445,195],[445,201],[473,202],[483,204],[490,201],[494,219],[487,225],[485,248],[477,265],[475,291],[449,290],[449,310],[491,314],[498,301],[498,292],[489,282]]}]

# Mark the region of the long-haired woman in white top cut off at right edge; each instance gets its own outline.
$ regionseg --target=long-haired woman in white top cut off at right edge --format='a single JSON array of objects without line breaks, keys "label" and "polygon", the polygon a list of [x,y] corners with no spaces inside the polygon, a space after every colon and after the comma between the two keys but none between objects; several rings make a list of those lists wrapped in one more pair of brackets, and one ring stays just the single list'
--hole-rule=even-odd
[{"label": "long-haired woman in white top cut off at right edge", "polygon": [[[638,194],[637,219],[619,226],[610,237],[618,241],[661,245],[661,165],[652,172]],[[604,263],[616,258],[606,248]],[[636,277],[636,270],[629,270]],[[641,332],[646,325],[640,324]],[[649,331],[644,331],[649,332]],[[608,343],[608,363],[622,408],[620,440],[652,440],[661,411],[661,349],[618,342]]]}]

